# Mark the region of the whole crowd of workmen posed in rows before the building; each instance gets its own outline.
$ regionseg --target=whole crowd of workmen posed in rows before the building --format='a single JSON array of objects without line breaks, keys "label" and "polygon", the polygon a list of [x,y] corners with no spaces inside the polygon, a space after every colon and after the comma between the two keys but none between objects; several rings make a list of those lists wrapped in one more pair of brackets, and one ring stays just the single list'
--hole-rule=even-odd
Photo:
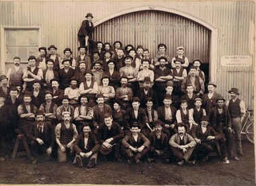
[{"label": "whole crowd of workmen posed in rows before the building", "polygon": [[123,48],[116,41],[112,48],[98,41],[89,53],[90,37],[79,42],[75,58],[70,48],[61,58],[56,46],[49,52],[42,46],[27,69],[15,56],[0,76],[2,155],[13,147],[18,128],[33,156],[79,167],[95,167],[98,155],[180,166],[208,160],[212,152],[224,163],[243,156],[245,103],[238,89],[228,91],[232,99],[225,103],[216,83],[205,83],[201,60],[189,62],[183,46],[170,58],[167,46],[158,44],[158,55],[150,58],[141,45]]}]

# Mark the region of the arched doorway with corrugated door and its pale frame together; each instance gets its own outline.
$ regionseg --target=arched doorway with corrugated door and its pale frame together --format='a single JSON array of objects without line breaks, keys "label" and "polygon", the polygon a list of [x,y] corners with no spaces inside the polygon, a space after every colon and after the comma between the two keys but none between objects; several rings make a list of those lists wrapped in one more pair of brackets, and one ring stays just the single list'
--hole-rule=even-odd
[{"label": "arched doorway with corrugated door and its pale frame together", "polygon": [[208,78],[216,81],[217,29],[199,17],[173,9],[139,7],[105,17],[94,26],[95,40],[110,43],[120,40],[123,46],[141,44],[150,50],[152,57],[158,53],[159,43],[167,45],[171,57],[177,55],[177,46],[184,46],[189,61],[200,58]]}]

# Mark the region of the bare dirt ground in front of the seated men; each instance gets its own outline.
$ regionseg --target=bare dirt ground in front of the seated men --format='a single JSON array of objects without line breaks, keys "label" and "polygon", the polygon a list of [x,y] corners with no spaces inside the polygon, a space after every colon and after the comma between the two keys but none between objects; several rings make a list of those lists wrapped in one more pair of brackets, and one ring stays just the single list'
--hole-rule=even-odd
[{"label": "bare dirt ground in front of the seated men", "polygon": [[170,162],[98,161],[94,169],[78,168],[72,162],[37,162],[26,156],[0,161],[0,184],[104,184],[104,185],[255,185],[254,146],[243,142],[245,156],[224,165],[217,157],[194,166]]}]

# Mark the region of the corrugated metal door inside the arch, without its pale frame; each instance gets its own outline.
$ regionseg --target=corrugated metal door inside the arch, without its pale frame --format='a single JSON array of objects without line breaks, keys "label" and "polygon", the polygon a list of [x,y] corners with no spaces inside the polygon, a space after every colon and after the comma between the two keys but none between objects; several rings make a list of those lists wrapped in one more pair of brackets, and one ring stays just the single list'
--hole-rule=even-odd
[{"label": "corrugated metal door inside the arch, without its pale frame", "polygon": [[110,43],[120,40],[123,47],[140,44],[150,50],[152,57],[158,54],[157,46],[160,43],[166,44],[170,57],[177,56],[177,46],[184,46],[185,55],[190,61],[200,58],[203,62],[209,62],[210,30],[172,13],[139,11],[121,15],[97,26],[94,38]]}]

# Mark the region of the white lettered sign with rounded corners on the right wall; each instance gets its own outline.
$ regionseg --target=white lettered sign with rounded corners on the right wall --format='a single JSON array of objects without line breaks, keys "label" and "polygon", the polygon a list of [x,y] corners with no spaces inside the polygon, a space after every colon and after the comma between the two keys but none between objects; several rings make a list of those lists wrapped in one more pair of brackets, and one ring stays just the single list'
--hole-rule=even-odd
[{"label": "white lettered sign with rounded corners on the right wall", "polygon": [[251,56],[222,56],[220,64],[224,67],[249,67],[253,62]]}]

